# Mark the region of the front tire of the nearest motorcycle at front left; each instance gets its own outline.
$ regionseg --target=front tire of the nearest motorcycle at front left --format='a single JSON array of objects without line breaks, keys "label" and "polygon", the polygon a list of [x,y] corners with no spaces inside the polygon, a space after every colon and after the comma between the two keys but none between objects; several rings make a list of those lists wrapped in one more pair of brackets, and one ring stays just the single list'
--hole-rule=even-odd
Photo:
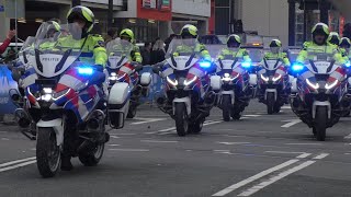
[{"label": "front tire of the nearest motorcycle at front left", "polygon": [[54,128],[38,128],[36,137],[36,165],[43,177],[54,177],[60,164],[60,148]]}]

